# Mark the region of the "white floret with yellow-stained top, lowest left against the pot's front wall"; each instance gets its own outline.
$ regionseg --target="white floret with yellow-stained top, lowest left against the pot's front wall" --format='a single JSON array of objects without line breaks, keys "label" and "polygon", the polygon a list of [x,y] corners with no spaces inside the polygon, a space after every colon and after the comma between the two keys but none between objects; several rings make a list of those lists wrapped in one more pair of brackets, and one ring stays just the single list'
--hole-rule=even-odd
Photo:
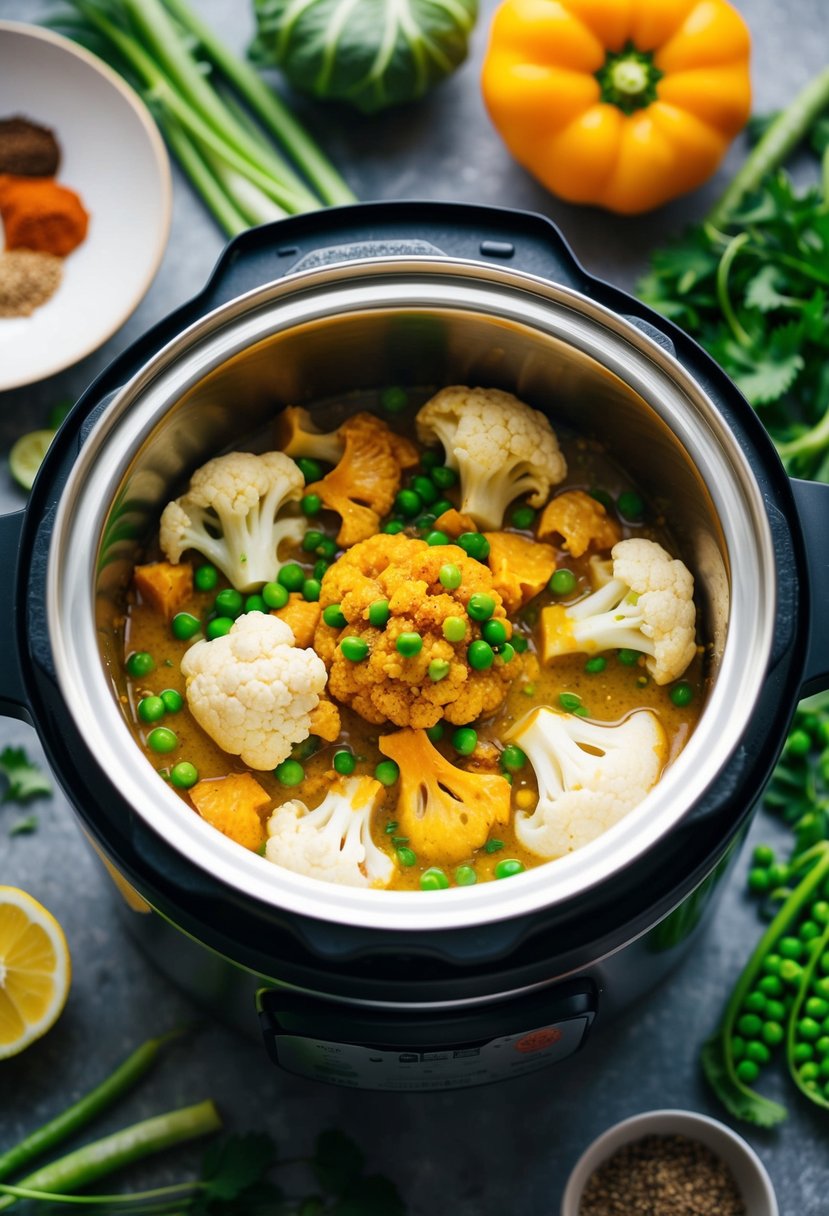
[{"label": "white floret with yellow-stained top, lowest left against the pot's front wall", "polygon": [[312,811],[299,800],[283,803],[267,821],[265,856],[323,883],[388,886],[394,862],[371,835],[382,796],[383,786],[373,777],[349,777],[335,781]]}]

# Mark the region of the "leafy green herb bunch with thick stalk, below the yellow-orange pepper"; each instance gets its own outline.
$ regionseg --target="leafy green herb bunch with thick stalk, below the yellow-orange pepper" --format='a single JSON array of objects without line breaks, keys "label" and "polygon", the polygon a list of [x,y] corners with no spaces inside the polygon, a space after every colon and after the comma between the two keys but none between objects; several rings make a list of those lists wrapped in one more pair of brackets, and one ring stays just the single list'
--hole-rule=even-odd
[{"label": "leafy green herb bunch with thick stalk, below the yellow-orange pepper", "polygon": [[[829,482],[827,106],[829,71],[763,124],[721,203],[654,253],[638,286],[732,377],[786,469],[819,482]],[[799,192],[780,164],[806,136],[823,159],[823,185]]]}]

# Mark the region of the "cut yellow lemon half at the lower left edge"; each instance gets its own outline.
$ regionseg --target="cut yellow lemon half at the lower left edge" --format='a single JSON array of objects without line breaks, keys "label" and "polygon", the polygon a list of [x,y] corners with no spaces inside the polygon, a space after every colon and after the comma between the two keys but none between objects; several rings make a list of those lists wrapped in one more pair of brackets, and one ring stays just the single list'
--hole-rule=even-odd
[{"label": "cut yellow lemon half at the lower left edge", "polygon": [[0,886],[0,1059],[57,1021],[71,979],[69,947],[51,912],[26,891]]}]

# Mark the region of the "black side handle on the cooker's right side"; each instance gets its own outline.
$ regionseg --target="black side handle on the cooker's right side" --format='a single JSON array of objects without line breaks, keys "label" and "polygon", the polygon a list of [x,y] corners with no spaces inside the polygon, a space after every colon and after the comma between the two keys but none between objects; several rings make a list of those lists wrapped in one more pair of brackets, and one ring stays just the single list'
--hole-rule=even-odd
[{"label": "black side handle on the cooker's right side", "polygon": [[829,688],[829,485],[791,479],[806,542],[808,634],[801,696]]}]

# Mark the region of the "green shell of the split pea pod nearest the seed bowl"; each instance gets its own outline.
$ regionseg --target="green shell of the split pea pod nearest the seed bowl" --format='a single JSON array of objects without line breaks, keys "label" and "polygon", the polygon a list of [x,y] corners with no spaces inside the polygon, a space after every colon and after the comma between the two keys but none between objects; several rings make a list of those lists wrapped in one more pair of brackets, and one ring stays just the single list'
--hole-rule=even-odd
[{"label": "green shell of the split pea pod nearest the seed bowl", "polygon": [[[799,858],[799,865],[807,863],[808,855]],[[716,1034],[709,1038],[700,1053],[703,1071],[726,1109],[737,1119],[756,1124],[758,1127],[773,1127],[786,1118],[786,1109],[769,1098],[756,1093],[737,1075],[732,1040],[735,1023],[743,1008],[746,995],[762,972],[763,959],[773,952],[780,938],[785,936],[790,925],[799,918],[802,910],[811,902],[820,883],[829,877],[829,843],[822,841],[811,854],[814,865],[797,884],[791,895],[777,913],[766,933],[746,963],[726,1006],[726,1010]],[[811,860],[811,858],[808,858]],[[819,957],[816,955],[814,957]],[[801,985],[805,983],[801,979]],[[791,1038],[790,1038],[791,1042]],[[810,1097],[813,1097],[811,1093]]]}]

